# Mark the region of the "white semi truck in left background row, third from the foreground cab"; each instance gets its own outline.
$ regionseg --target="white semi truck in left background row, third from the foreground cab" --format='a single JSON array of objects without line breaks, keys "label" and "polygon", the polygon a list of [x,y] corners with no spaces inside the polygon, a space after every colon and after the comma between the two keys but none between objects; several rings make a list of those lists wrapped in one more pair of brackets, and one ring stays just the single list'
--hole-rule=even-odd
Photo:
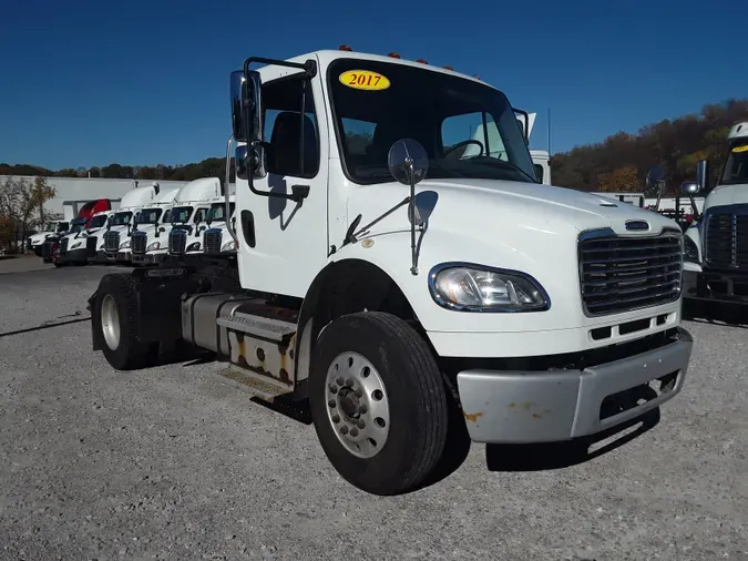
[{"label": "white semi truck in left background row, third from the foreground cab", "polygon": [[167,228],[172,223],[172,206],[180,188],[171,188],[158,193],[156,198],[143,206],[136,215],[130,234],[130,245],[124,249],[132,252],[132,264],[145,263],[147,249],[166,247]]}]

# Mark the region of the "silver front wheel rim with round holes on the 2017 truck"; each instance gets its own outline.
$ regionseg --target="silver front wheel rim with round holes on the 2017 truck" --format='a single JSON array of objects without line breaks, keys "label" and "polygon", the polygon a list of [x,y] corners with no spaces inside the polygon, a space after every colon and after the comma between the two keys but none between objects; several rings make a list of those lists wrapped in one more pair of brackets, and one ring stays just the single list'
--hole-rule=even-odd
[{"label": "silver front wheel rim with round holes on the 2017 truck", "polygon": [[348,452],[372,458],[385,447],[390,407],[385,382],[375,366],[358,353],[338,355],[325,380],[327,418]]}]

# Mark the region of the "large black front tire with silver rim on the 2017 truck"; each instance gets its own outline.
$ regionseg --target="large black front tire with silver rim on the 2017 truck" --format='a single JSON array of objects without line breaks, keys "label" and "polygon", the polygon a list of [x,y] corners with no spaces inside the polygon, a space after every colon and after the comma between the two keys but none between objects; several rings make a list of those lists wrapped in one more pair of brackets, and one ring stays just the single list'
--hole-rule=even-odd
[{"label": "large black front tire with silver rim on the 2017 truck", "polygon": [[408,492],[439,462],[449,426],[441,374],[402,319],[381,312],[335,319],[315,347],[309,384],[320,445],[351,484]]}]

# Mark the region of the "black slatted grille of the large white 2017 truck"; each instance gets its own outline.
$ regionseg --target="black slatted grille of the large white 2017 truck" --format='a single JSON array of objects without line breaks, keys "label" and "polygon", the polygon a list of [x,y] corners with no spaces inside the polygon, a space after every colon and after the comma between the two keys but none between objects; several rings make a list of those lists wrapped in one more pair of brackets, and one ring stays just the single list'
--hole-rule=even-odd
[{"label": "black slatted grille of the large white 2017 truck", "polygon": [[587,316],[659,306],[680,297],[683,236],[618,237],[611,231],[580,237],[580,282]]}]

